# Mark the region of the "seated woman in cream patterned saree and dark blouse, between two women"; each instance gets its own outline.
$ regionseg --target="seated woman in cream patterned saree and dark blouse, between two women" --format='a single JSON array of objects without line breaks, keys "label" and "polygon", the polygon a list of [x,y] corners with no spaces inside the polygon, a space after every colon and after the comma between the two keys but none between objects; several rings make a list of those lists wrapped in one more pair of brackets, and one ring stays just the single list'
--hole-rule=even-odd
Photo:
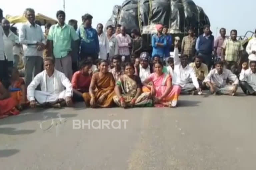
[{"label": "seated woman in cream patterned saree and dark blouse, between two women", "polygon": [[138,76],[134,75],[133,63],[125,64],[125,74],[116,82],[113,100],[122,108],[126,107],[151,107],[150,92],[142,93],[142,83]]}]

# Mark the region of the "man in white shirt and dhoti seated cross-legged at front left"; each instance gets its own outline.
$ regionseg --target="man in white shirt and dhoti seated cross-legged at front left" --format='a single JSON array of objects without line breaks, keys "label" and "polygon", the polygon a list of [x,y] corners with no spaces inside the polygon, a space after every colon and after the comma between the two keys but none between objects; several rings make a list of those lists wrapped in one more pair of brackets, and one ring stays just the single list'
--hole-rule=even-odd
[{"label": "man in white shirt and dhoti seated cross-legged at front left", "polygon": [[[53,58],[44,58],[45,70],[37,74],[29,84],[27,98],[31,108],[35,108],[36,105],[55,108],[72,105],[72,84],[65,74],[54,69],[54,66]],[[35,90],[38,85],[41,91]]]}]

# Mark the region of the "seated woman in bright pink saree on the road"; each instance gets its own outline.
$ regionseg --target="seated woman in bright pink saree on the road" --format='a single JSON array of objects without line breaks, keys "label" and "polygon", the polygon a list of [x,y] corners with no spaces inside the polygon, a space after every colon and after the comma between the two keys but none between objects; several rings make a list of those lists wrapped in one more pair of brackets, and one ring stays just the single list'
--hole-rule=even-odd
[{"label": "seated woman in bright pink saree on the road", "polygon": [[[161,62],[154,64],[154,71],[143,84],[150,89],[155,106],[176,107],[181,88],[179,86],[173,86],[172,88],[171,76],[163,73]],[[149,82],[152,82],[153,85],[148,85]]]}]

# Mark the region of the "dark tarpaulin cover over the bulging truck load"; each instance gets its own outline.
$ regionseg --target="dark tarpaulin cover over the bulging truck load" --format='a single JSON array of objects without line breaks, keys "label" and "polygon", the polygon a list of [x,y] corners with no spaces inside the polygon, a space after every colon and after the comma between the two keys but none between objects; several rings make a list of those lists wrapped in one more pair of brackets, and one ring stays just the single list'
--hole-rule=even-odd
[{"label": "dark tarpaulin cover over the bulging truck load", "polygon": [[106,25],[116,24],[125,26],[128,33],[138,29],[142,34],[153,34],[155,25],[163,24],[169,26],[169,33],[182,34],[189,26],[202,33],[203,25],[210,21],[193,0],[126,0],[120,10],[114,7]]}]

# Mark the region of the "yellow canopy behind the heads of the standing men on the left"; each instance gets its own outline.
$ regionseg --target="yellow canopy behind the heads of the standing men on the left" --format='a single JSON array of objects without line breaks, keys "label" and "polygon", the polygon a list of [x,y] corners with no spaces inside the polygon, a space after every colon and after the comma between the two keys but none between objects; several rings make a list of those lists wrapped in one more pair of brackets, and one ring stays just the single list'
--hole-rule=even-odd
[{"label": "yellow canopy behind the heads of the standing men on the left", "polygon": [[[24,15],[21,16],[11,16],[11,15],[6,15],[6,19],[11,23],[11,24],[16,24],[16,23],[26,23],[27,19]],[[41,25],[45,25],[46,23],[50,23],[50,24],[56,24],[57,21],[47,17],[43,14],[37,14],[36,15],[36,20],[39,21],[41,23]]]}]

